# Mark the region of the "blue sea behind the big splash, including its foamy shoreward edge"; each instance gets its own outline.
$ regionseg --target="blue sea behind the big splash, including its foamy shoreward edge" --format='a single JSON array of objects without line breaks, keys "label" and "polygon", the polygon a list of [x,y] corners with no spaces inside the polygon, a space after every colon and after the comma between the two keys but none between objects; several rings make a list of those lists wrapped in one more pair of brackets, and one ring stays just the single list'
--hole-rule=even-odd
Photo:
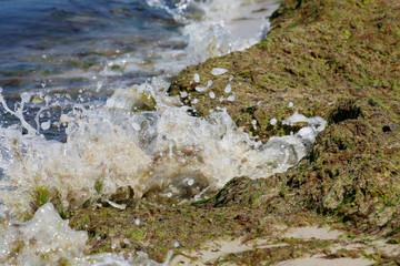
[{"label": "blue sea behind the big splash, including its foamy shoreward edge", "polygon": [[[273,0],[258,2],[232,0],[227,6],[221,0],[0,0],[2,95],[8,106],[16,110],[21,94],[30,94],[23,116],[32,126],[36,114],[44,105],[33,99],[52,100],[40,122],[58,121],[77,103],[97,109],[117,89],[142,84],[152,76],[168,81],[186,65],[210,57],[207,49],[222,44],[229,48],[231,42],[238,42],[230,37],[223,39],[227,34],[218,27],[202,31],[202,17],[216,11],[209,9],[210,3],[217,11],[222,10],[213,17],[217,23],[236,14],[233,21],[222,24],[241,21],[241,33],[256,29],[254,34],[259,34],[262,31],[259,25],[243,22],[260,20],[259,10],[272,10],[276,4]],[[248,13],[241,18],[238,8],[243,4],[250,10],[244,8]],[[227,13],[227,7],[232,14]],[[200,25],[192,31],[201,32],[200,37],[191,40],[182,33],[187,24],[198,22]],[[209,35],[210,41],[203,42],[201,34]],[[186,49],[188,44],[200,49],[203,57],[190,60],[190,54],[197,51]],[[224,49],[221,53],[229,52]],[[20,123],[1,104],[0,115],[0,126]],[[66,136],[63,126],[51,126],[42,133],[58,141]]]}]

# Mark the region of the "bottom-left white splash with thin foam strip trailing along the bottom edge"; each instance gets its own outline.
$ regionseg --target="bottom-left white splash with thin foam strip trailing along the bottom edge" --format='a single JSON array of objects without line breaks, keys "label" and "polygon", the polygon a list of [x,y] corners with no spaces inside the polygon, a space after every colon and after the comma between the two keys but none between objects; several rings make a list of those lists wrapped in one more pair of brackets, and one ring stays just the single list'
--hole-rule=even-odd
[{"label": "bottom-left white splash with thin foam strip trailing along the bottom edge", "polygon": [[33,218],[19,223],[13,221],[12,209],[0,208],[0,263],[2,265],[149,265],[167,266],[172,256],[168,254],[164,263],[149,259],[146,253],[121,255],[102,253],[83,255],[87,232],[76,232],[68,226],[51,203],[41,206]]}]

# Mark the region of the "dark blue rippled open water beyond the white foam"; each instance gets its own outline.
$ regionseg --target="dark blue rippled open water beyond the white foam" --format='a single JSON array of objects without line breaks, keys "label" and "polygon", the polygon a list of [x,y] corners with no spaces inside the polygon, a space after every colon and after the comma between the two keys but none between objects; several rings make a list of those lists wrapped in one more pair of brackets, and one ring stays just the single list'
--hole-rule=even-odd
[{"label": "dark blue rippled open water beyond the white foam", "polygon": [[[141,0],[1,0],[0,4],[0,85],[6,95],[41,88],[49,75],[88,70],[117,53],[154,43],[178,27],[166,11]],[[80,78],[58,82],[52,86],[84,84]]]}]

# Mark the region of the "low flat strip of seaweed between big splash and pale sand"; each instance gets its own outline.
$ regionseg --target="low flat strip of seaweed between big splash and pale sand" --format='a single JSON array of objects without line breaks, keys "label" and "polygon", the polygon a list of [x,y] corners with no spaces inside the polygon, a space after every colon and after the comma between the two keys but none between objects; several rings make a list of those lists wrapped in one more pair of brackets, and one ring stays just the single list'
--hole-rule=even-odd
[{"label": "low flat strip of seaweed between big splash and pale sand", "polygon": [[[266,215],[259,215],[263,213]],[[247,239],[271,237],[274,225],[283,221],[292,226],[322,224],[314,214],[303,217],[268,215],[263,207],[196,207],[190,205],[154,207],[146,205],[124,211],[93,206],[69,213],[74,229],[87,231],[88,253],[114,252],[128,255],[146,252],[162,262],[171,249],[200,249],[203,244],[217,238]],[[136,224],[136,221],[140,221]],[[179,247],[176,246],[179,243]]]}]

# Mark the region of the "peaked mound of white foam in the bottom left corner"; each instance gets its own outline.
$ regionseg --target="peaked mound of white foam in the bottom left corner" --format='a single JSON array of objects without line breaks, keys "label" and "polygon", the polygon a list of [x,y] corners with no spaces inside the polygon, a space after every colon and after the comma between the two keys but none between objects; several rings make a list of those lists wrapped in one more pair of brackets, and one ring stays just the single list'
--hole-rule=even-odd
[{"label": "peaked mound of white foam in the bottom left corner", "polygon": [[26,223],[3,224],[0,258],[7,265],[56,265],[61,258],[82,255],[87,239],[86,232],[72,231],[48,203]]}]

